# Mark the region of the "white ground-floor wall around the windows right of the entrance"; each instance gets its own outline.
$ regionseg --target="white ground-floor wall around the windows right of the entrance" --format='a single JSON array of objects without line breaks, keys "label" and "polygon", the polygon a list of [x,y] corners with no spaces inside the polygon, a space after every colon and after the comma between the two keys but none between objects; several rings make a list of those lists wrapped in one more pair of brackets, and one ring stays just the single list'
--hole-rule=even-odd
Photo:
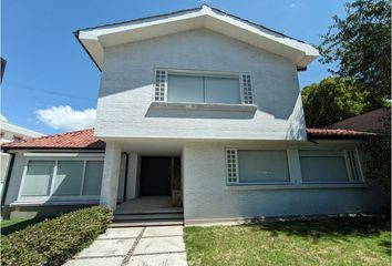
[{"label": "white ground-floor wall around the windows right of the entrance", "polygon": [[[281,144],[281,147],[316,144]],[[188,143],[184,149],[185,223],[221,222],[255,216],[298,216],[379,211],[378,188],[230,188],[226,186],[225,147],[264,144]],[[296,172],[296,167],[291,167]]]}]

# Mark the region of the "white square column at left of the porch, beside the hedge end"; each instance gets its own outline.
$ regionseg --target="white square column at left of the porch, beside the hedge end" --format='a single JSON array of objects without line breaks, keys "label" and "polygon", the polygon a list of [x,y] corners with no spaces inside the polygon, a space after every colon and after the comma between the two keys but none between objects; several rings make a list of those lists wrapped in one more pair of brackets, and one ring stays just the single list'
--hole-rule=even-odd
[{"label": "white square column at left of the porch, beside the hedge end", "polygon": [[110,207],[112,211],[117,205],[120,166],[120,145],[115,142],[106,142],[100,204]]}]

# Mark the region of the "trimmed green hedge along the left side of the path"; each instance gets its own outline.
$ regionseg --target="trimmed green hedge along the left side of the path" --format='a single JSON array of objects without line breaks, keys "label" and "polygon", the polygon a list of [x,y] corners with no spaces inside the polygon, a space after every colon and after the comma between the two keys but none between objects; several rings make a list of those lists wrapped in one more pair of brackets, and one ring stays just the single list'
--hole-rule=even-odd
[{"label": "trimmed green hedge along the left side of the path", "polygon": [[103,233],[112,213],[94,206],[47,219],[1,238],[1,265],[62,265]]}]

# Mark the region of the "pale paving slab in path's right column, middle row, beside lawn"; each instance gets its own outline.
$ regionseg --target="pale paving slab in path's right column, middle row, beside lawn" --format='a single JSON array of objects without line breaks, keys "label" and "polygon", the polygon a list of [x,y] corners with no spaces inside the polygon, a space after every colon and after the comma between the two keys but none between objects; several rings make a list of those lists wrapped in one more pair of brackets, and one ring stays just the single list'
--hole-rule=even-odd
[{"label": "pale paving slab in path's right column, middle row, beside lawn", "polygon": [[185,252],[185,244],[182,236],[142,238],[134,250],[134,254],[154,254]]}]

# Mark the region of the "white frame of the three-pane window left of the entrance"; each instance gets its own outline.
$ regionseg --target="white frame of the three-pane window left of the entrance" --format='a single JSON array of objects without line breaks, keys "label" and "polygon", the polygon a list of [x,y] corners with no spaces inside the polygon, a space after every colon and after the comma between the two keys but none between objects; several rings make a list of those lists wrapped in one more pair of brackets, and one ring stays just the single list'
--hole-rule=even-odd
[{"label": "white frame of the three-pane window left of the entrance", "polygon": [[[51,176],[50,181],[50,192],[49,196],[23,196],[22,191],[24,187],[24,182],[27,178],[27,172],[29,167],[29,162],[30,161],[54,161],[54,167],[53,167],[53,173]],[[83,162],[83,176],[81,181],[81,188],[80,188],[80,194],[79,195],[70,195],[70,196],[55,196],[53,195],[53,188],[54,188],[54,181],[58,174],[58,164],[59,161],[79,161]],[[83,185],[84,185],[84,178],[85,178],[85,168],[86,168],[86,162],[90,161],[97,161],[97,162],[104,162],[104,155],[97,156],[63,156],[63,157],[53,157],[53,156],[29,156],[25,158],[24,166],[23,166],[23,175],[21,180],[21,184],[19,187],[19,193],[18,193],[18,202],[61,202],[61,201],[97,201],[100,200],[101,195],[83,195]],[[101,181],[102,182],[102,181]]]}]

